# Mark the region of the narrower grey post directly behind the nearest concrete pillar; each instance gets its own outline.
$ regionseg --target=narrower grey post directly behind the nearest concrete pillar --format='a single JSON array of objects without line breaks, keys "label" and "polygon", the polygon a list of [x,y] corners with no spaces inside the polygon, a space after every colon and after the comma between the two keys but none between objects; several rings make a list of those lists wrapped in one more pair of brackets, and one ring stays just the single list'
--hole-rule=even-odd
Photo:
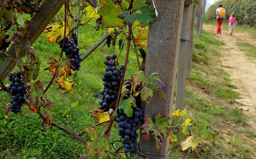
[{"label": "narrower grey post directly behind the nearest concrete pillar", "polygon": [[177,74],[177,88],[175,109],[184,110],[186,93],[186,76],[188,71],[188,52],[191,31],[193,5],[185,5],[182,19],[182,34],[180,36],[179,66]]}]

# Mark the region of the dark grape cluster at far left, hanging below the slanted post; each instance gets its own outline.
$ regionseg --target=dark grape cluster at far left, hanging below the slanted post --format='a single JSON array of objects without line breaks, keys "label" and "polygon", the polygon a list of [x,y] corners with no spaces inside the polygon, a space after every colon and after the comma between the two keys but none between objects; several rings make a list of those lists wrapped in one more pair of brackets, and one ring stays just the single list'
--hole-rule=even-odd
[{"label": "dark grape cluster at far left, hanging below the slanted post", "polygon": [[21,106],[25,103],[24,95],[27,93],[24,83],[21,81],[21,72],[14,72],[8,74],[10,85],[8,85],[8,90],[11,93],[11,105],[8,109],[11,112],[18,113],[21,111]]}]

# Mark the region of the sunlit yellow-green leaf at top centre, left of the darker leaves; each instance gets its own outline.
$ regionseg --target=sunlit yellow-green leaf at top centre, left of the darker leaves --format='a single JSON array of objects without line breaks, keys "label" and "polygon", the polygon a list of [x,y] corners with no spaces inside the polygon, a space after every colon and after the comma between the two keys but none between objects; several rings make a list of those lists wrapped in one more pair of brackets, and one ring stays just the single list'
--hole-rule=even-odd
[{"label": "sunlit yellow-green leaf at top centre, left of the darker leaves", "polygon": [[123,20],[117,17],[121,13],[120,7],[115,6],[110,0],[104,0],[104,4],[98,10],[98,14],[101,14],[102,17],[102,26],[106,28],[118,27],[123,28]]}]

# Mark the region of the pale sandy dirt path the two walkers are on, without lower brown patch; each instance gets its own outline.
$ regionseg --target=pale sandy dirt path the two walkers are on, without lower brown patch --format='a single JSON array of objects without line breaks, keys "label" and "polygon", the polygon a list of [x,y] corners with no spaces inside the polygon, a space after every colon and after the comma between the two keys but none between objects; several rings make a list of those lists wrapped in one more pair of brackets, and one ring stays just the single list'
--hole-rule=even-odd
[{"label": "pale sandy dirt path the two walkers are on, without lower brown patch", "polygon": [[229,35],[228,29],[223,28],[221,34],[216,34],[217,26],[211,24],[205,24],[203,28],[209,33],[215,33],[214,37],[225,43],[221,46],[221,66],[229,73],[231,83],[237,87],[235,91],[241,94],[241,98],[236,101],[242,103],[243,108],[248,108],[243,113],[247,115],[249,125],[256,131],[256,59],[246,56],[237,45],[247,42],[256,46],[256,40],[252,38],[252,34],[236,31],[236,28],[233,36]]}]

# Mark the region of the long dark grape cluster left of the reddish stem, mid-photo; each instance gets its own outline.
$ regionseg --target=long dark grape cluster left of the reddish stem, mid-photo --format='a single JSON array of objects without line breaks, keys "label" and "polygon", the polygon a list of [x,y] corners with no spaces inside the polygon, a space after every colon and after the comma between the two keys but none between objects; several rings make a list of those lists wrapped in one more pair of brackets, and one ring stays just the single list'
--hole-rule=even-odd
[{"label": "long dark grape cluster left of the reddish stem, mid-photo", "polygon": [[116,66],[118,62],[115,61],[117,55],[113,54],[112,56],[107,56],[104,61],[106,68],[104,75],[102,77],[104,89],[100,91],[101,100],[99,101],[99,109],[108,112],[110,110],[109,106],[117,98],[117,93],[119,89],[120,79],[124,65],[120,66],[120,69],[117,69]]}]

